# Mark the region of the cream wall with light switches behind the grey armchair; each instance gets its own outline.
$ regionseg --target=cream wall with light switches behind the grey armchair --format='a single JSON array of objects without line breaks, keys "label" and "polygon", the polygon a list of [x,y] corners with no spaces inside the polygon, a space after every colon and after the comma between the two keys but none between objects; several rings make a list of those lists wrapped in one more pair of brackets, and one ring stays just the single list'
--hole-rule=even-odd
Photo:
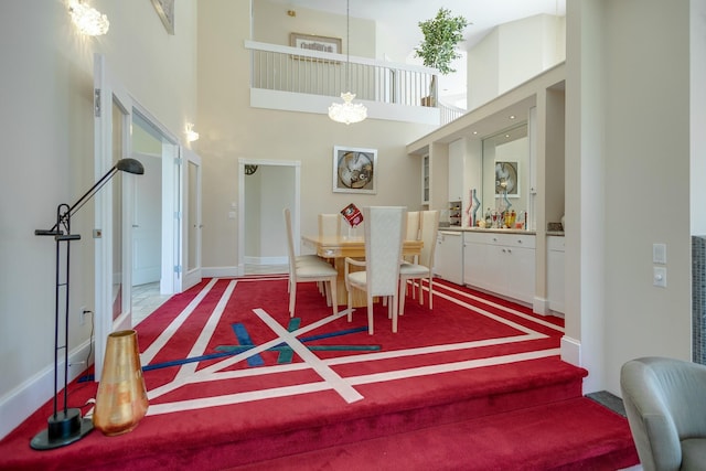
[{"label": "cream wall with light switches behind the grey armchair", "polygon": [[620,394],[625,361],[691,358],[689,2],[567,8],[566,332],[585,392]]}]

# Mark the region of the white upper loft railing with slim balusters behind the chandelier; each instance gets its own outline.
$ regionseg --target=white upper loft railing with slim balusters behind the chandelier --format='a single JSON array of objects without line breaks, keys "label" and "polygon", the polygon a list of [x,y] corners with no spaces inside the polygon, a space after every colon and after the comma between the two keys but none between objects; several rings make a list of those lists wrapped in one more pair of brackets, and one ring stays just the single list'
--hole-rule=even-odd
[{"label": "white upper loft railing with slim balusters behind the chandelier", "polygon": [[[431,68],[246,41],[250,87],[407,106],[435,106]],[[349,89],[350,88],[350,89]],[[434,97],[430,98],[430,94]]]}]

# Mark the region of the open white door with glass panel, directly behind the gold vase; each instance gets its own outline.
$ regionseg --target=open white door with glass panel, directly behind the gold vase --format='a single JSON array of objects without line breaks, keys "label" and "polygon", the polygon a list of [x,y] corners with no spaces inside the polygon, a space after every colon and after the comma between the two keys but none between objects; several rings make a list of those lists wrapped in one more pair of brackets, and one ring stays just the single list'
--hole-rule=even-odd
[{"label": "open white door with glass panel, directly behind the gold vase", "polygon": [[[95,178],[119,159],[130,156],[132,101],[108,71],[100,54],[94,56]],[[118,172],[95,196],[95,378],[100,381],[105,342],[110,332],[132,325],[131,221],[133,175]]]}]

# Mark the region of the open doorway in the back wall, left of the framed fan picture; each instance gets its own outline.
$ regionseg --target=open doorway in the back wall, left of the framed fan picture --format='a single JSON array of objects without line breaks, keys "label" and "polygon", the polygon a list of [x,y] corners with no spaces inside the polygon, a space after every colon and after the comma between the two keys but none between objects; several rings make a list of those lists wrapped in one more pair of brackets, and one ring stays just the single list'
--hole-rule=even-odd
[{"label": "open doorway in the back wall, left of the framed fan picture", "polygon": [[300,173],[299,161],[238,160],[238,275],[287,270],[282,210],[291,211],[299,240]]}]

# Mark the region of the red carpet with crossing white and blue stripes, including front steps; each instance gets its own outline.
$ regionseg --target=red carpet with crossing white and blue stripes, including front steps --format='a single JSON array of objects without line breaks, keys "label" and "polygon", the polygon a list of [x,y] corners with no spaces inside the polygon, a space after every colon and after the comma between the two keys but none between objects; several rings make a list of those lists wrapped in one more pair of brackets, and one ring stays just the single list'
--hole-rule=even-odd
[{"label": "red carpet with crossing white and blue stripes, including front steps", "polygon": [[[68,447],[34,451],[29,441],[46,425],[47,403],[0,442],[0,468],[637,463],[624,418],[581,398],[587,372],[559,360],[560,319],[438,286],[432,311],[407,300],[397,334],[377,307],[376,333],[368,335],[364,309],[351,323],[331,318],[313,283],[299,287],[297,327],[286,279],[204,280],[137,327],[150,407],[133,431],[94,431]],[[256,347],[238,352],[245,344]],[[96,388],[72,383],[69,406],[84,405]]]}]

